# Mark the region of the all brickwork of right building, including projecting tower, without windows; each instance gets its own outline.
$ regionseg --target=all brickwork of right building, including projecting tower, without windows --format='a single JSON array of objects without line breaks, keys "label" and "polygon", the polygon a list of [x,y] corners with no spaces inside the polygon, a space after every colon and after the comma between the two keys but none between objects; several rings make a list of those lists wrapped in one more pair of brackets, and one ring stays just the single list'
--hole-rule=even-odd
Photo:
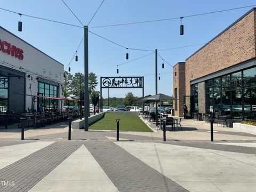
[{"label": "all brickwork of right building, including projecting tower, without windows", "polygon": [[[190,95],[191,81],[256,58],[255,34],[254,8],[191,55],[186,60],[186,67],[183,62],[173,67],[173,93],[175,88],[178,90],[178,110],[175,115],[182,116],[183,96]],[[177,76],[174,76],[175,71]],[[204,89],[204,82],[198,83],[199,113],[205,113]]]}]

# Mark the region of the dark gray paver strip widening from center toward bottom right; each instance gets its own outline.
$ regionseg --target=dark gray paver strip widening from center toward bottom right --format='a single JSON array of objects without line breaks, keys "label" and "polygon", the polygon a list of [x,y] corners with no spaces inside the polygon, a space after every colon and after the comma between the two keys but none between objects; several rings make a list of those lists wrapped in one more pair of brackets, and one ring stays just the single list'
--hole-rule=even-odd
[{"label": "dark gray paver strip widening from center toward bottom right", "polygon": [[119,191],[187,191],[113,142],[84,145]]}]

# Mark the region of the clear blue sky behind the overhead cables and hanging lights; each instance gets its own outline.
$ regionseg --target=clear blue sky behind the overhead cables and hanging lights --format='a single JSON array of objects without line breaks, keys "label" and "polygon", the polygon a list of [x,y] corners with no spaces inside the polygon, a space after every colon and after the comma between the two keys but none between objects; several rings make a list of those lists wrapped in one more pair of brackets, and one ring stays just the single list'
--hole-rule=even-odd
[{"label": "clear blue sky behind the overhead cables and hanging lights", "polygon": [[[81,26],[61,0],[44,1],[0,1],[3,9],[33,15],[45,19],[57,20]],[[83,25],[87,25],[102,0],[65,0],[66,4],[76,14]],[[206,14],[183,19],[184,35],[179,35],[180,19],[141,23],[137,25],[93,28],[96,26],[113,25],[117,23],[138,22],[165,18],[184,17],[198,13],[232,9],[235,7],[256,4],[247,0],[105,0],[89,25],[89,30],[125,47],[146,50],[162,50],[173,47],[207,43],[231,23],[240,18],[252,7],[233,11]],[[39,50],[50,55],[68,66],[79,42],[83,37],[83,28],[71,27],[22,16],[22,32],[18,31],[19,15],[0,10],[0,25],[11,33],[24,39]],[[161,51],[159,54],[171,65],[185,61],[191,54],[203,45],[180,49]],[[78,62],[71,62],[71,73],[84,71],[83,43],[77,52]],[[126,61],[136,59],[150,52],[129,50],[129,60],[125,59],[126,49],[105,41],[89,33],[89,72],[98,76],[145,76],[145,95],[155,94],[155,54],[119,66]],[[162,59],[158,57],[158,73],[162,73],[158,81],[158,93],[173,94],[172,67],[165,63],[162,69]],[[99,86],[97,87],[99,91]],[[109,97],[125,97],[127,92],[133,92],[141,97],[141,89],[110,89]],[[103,98],[107,98],[107,90],[103,90]]]}]

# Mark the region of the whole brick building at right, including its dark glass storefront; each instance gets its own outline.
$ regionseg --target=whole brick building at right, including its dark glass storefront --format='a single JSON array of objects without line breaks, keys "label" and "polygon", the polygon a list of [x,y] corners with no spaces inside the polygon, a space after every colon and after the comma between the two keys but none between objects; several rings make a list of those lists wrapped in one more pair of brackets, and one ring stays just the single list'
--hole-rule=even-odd
[{"label": "whole brick building at right, including its dark glass storefront", "polygon": [[175,115],[218,113],[256,119],[256,9],[173,67]]}]

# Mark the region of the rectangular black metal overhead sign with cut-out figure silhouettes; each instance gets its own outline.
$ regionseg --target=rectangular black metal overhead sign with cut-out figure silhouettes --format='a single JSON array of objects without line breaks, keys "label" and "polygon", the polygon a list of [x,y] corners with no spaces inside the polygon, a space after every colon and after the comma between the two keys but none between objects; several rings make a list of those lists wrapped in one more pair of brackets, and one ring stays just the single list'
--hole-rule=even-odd
[{"label": "rectangular black metal overhead sign with cut-out figure silhouettes", "polygon": [[143,77],[100,77],[101,88],[143,88]]}]

